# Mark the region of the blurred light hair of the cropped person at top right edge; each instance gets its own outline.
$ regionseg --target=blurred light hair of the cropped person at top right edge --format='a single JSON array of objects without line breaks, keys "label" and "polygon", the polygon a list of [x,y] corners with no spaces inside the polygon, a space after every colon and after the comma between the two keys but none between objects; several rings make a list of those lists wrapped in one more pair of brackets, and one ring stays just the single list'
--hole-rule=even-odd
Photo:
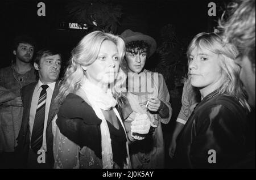
[{"label": "blurred light hair of the cropped person at top right edge", "polygon": [[247,55],[255,65],[255,0],[230,3],[218,25],[224,41],[234,44],[241,55]]}]

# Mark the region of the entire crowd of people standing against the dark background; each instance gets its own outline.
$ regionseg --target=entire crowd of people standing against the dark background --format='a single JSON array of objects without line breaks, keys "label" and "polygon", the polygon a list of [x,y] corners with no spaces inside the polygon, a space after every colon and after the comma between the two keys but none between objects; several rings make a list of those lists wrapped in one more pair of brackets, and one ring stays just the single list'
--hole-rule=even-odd
[{"label": "entire crowd of people standing against the dark background", "polygon": [[[188,46],[175,168],[255,168],[255,0],[231,12]],[[91,32],[59,80],[61,53],[16,37],[15,62],[0,69],[0,168],[165,168],[170,95],[144,68],[156,46],[131,29]]]}]

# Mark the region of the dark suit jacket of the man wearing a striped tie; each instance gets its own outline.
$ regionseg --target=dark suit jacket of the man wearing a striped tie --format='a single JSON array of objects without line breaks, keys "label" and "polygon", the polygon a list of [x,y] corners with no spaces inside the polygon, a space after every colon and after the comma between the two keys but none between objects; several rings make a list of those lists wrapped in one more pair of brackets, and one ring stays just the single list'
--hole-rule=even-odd
[{"label": "dark suit jacket of the man wearing a striped tie", "polygon": [[[20,165],[26,166],[28,160],[28,151],[30,148],[30,127],[29,127],[29,118],[30,118],[30,107],[32,96],[34,93],[34,89],[38,82],[34,82],[24,86],[21,91],[21,97],[23,102],[23,116],[22,116],[22,124],[20,126],[20,131],[18,135],[18,146],[16,148],[16,155],[18,156],[18,161]],[[53,166],[53,134],[52,134],[52,119],[57,114],[57,105],[55,104],[55,97],[59,93],[59,81],[56,82],[55,88],[52,94],[51,105],[49,107],[48,121],[46,127],[46,144],[47,144],[47,158],[46,162]]]}]

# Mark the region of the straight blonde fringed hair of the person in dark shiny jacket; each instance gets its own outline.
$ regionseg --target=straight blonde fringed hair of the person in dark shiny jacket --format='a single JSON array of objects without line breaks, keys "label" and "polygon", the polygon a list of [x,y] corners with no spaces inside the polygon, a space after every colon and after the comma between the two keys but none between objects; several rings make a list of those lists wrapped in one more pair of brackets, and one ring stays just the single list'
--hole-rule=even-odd
[{"label": "straight blonde fringed hair of the person in dark shiny jacket", "polygon": [[227,44],[222,40],[220,35],[216,33],[199,33],[188,46],[187,58],[190,62],[189,55],[192,50],[207,49],[217,54],[219,58],[219,66],[221,68],[221,85],[218,87],[216,95],[230,95],[237,98],[244,108],[250,110],[250,106],[246,101],[246,93],[242,89],[242,82],[239,78],[240,67],[234,62],[238,55],[238,50],[233,44]]}]

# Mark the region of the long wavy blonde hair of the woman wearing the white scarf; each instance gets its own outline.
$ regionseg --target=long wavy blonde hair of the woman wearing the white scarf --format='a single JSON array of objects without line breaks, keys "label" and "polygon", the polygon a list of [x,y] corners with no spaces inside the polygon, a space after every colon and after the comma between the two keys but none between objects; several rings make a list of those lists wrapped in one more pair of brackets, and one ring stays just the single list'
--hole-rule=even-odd
[{"label": "long wavy blonde hair of the woman wearing the white scarf", "polygon": [[126,92],[126,87],[123,87],[123,84],[126,82],[126,75],[122,70],[121,60],[125,55],[125,42],[119,36],[102,31],[94,31],[82,38],[79,44],[72,50],[69,65],[63,80],[60,82],[59,94],[55,98],[57,105],[61,105],[69,93],[76,93],[80,88],[81,82],[85,77],[85,71],[82,66],[92,65],[96,61],[101,44],[105,40],[112,41],[117,45],[120,66],[118,76],[111,90],[113,97],[118,100],[118,105],[123,103]]}]

